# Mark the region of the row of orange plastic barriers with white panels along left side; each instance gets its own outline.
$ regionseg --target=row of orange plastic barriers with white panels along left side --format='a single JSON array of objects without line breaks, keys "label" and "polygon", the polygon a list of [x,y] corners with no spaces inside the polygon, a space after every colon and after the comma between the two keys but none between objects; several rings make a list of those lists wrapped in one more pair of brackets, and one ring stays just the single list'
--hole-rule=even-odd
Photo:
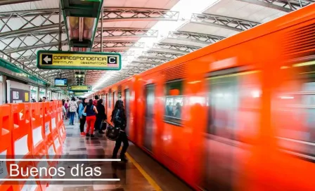
[{"label": "row of orange plastic barriers with white panels along left side", "polygon": [[[10,177],[9,169],[13,164],[18,169],[23,168],[24,172],[27,167],[37,166],[39,169],[57,165],[56,162],[38,162],[35,159],[57,159],[61,156],[66,134],[62,112],[60,101],[0,105],[0,179],[5,179],[0,180],[1,191],[46,190],[48,183],[39,181],[39,178],[51,177],[20,174],[11,174]],[[10,178],[25,180],[9,180]],[[34,180],[26,183],[27,178]]]}]

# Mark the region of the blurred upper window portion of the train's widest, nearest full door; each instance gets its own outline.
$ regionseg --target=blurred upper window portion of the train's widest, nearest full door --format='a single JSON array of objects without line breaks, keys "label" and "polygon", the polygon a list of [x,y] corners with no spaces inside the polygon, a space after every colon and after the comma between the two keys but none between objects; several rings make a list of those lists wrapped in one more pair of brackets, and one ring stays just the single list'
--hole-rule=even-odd
[{"label": "blurred upper window portion of the train's widest, nearest full door", "polygon": [[259,71],[221,72],[219,76],[208,79],[207,133],[231,140],[244,135],[255,136],[261,93],[257,78]]}]

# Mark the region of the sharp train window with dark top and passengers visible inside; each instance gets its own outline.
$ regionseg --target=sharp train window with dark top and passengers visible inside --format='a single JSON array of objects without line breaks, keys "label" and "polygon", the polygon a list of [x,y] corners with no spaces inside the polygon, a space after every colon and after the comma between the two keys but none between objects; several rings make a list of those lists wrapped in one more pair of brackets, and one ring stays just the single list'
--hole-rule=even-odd
[{"label": "sharp train window with dark top and passengers visible inside", "polygon": [[168,81],[165,95],[165,121],[181,125],[181,108],[183,107],[183,81]]}]

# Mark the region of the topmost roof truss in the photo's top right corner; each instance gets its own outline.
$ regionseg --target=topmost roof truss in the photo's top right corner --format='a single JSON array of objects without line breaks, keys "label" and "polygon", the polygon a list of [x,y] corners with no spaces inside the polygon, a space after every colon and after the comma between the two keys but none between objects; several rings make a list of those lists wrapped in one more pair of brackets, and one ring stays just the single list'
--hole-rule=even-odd
[{"label": "topmost roof truss in the photo's top right corner", "polygon": [[236,0],[242,1],[248,4],[255,4],[259,6],[264,6],[268,8],[274,8],[278,11],[283,11],[290,13],[291,11],[295,11],[297,9],[303,8],[304,6],[308,6],[309,4],[313,4],[315,1],[313,0]]}]

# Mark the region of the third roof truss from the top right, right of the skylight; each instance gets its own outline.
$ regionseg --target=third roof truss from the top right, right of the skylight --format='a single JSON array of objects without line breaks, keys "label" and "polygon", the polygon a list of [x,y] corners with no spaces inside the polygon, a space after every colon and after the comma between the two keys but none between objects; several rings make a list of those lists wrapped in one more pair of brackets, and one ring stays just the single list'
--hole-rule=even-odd
[{"label": "third roof truss from the top right, right of the skylight", "polygon": [[225,37],[220,37],[212,34],[203,34],[197,32],[183,32],[183,31],[170,31],[167,39],[176,39],[184,41],[192,41],[201,44],[213,44],[217,41],[225,39]]}]

